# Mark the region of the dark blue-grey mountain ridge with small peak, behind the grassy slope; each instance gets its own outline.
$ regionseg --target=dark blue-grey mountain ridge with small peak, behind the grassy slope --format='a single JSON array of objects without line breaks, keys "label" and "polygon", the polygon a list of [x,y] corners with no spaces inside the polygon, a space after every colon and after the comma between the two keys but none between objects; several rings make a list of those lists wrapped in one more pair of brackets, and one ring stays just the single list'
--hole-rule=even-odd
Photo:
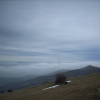
[{"label": "dark blue-grey mountain ridge with small peak, behind the grassy slope", "polygon": [[6,83],[3,86],[1,86],[0,91],[6,92],[8,89],[13,89],[13,90],[22,89],[29,86],[36,86],[36,85],[44,84],[46,82],[55,81],[55,76],[58,73],[65,75],[67,78],[71,78],[71,77],[85,76],[93,73],[100,73],[100,68],[92,65],[88,65],[81,69],[55,71],[43,76],[34,77],[33,79],[31,79],[32,78],[31,77],[29,80],[22,79],[20,81],[17,80],[14,82],[10,81],[9,83]]}]

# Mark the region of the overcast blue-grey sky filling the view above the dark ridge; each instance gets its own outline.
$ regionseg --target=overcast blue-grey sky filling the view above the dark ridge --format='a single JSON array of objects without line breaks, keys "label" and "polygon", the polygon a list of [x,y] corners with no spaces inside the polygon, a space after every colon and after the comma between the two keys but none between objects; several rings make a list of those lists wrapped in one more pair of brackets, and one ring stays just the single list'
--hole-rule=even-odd
[{"label": "overcast blue-grey sky filling the view above the dark ridge", "polygon": [[56,69],[58,58],[63,68],[100,67],[99,0],[0,0],[0,9],[1,76]]}]

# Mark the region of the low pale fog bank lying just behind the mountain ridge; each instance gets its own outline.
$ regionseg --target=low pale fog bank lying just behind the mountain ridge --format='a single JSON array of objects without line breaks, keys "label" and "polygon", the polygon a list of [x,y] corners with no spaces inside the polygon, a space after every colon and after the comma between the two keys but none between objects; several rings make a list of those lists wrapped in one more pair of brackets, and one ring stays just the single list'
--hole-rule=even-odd
[{"label": "low pale fog bank lying just behind the mountain ridge", "polygon": [[[7,64],[7,65],[6,65]],[[60,65],[59,65],[60,64]],[[54,71],[58,71],[59,69],[78,69],[85,67],[87,65],[94,65],[100,67],[100,61],[96,62],[69,62],[69,63],[15,63],[15,62],[8,62],[8,63],[1,63],[0,67],[0,77],[22,77],[27,75],[44,75]],[[5,66],[5,67],[4,67]]]}]

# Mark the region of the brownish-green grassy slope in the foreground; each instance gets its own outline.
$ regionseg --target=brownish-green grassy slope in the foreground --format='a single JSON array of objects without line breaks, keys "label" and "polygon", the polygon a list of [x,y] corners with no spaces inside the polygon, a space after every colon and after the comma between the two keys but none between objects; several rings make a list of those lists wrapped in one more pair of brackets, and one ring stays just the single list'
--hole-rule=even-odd
[{"label": "brownish-green grassy slope in the foreground", "polygon": [[0,100],[100,100],[100,74],[69,80],[72,82],[49,90],[43,89],[54,85],[54,82],[0,93]]}]

